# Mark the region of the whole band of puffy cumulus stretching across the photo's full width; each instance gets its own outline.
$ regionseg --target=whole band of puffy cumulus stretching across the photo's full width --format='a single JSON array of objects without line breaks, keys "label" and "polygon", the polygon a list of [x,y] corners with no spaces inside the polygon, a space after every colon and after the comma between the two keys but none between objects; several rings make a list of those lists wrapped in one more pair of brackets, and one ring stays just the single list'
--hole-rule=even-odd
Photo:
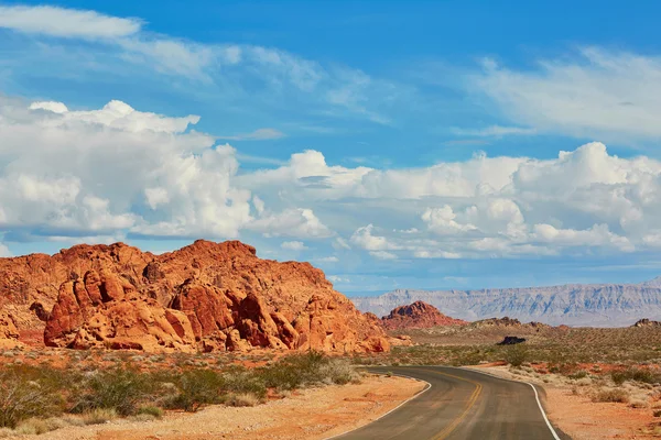
[{"label": "whole band of puffy cumulus stretching across the photo's full width", "polygon": [[551,160],[483,154],[408,169],[333,165],[310,150],[239,172],[237,151],[192,130],[197,121],[120,101],[71,111],[0,98],[4,241],[257,233],[289,239],[284,249],[316,240],[380,260],[661,245],[661,163],[598,142]]}]

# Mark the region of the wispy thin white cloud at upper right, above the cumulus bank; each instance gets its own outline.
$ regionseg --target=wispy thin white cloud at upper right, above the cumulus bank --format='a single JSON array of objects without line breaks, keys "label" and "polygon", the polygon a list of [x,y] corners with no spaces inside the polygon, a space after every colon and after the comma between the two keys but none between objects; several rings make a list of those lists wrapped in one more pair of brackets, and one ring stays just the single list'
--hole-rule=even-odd
[{"label": "wispy thin white cloud at upper right, above the cumulus bank", "polygon": [[661,138],[661,58],[585,47],[537,69],[485,63],[473,87],[539,131],[626,140]]}]

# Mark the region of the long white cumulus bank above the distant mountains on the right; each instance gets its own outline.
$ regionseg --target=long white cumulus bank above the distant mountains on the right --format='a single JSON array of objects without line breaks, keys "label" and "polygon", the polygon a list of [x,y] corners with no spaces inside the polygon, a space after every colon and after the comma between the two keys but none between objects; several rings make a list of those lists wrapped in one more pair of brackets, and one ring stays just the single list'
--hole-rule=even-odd
[{"label": "long white cumulus bank above the distant mountains on the right", "polygon": [[633,252],[655,245],[661,216],[661,163],[620,158],[598,142],[554,160],[476,155],[412,169],[334,166],[306,151],[240,179],[275,202],[314,200],[326,212],[339,202],[353,217],[328,227],[362,226],[333,246],[375,257]]}]

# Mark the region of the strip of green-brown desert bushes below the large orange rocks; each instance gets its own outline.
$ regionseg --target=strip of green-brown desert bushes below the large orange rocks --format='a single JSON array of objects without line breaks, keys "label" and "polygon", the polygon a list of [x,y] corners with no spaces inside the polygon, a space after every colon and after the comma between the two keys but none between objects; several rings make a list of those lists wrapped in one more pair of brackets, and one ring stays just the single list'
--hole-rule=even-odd
[{"label": "strip of green-brown desert bushes below the large orange rocks", "polygon": [[[246,369],[209,366],[175,355],[175,367],[141,371],[131,362],[148,358],[112,353],[106,370],[78,367],[73,353],[66,369],[0,366],[0,429],[41,433],[61,426],[104,424],[116,417],[160,418],[163,408],[196,411],[205,405],[253,406],[269,388],[285,395],[305,386],[346,384],[359,378],[347,360],[319,352],[293,354]],[[221,370],[220,370],[221,369]],[[68,413],[63,417],[56,417]]]}]

